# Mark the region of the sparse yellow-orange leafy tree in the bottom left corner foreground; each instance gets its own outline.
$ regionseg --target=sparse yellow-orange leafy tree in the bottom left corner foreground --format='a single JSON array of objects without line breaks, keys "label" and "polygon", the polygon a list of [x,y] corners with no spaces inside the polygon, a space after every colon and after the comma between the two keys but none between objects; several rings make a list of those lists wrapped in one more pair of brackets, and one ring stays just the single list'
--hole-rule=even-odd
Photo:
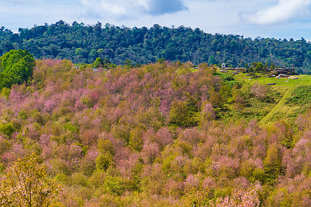
[{"label": "sparse yellow-orange leafy tree in the bottom left corner foreground", "polygon": [[0,206],[50,206],[59,186],[46,177],[46,166],[35,154],[18,159],[8,168],[0,187]]}]

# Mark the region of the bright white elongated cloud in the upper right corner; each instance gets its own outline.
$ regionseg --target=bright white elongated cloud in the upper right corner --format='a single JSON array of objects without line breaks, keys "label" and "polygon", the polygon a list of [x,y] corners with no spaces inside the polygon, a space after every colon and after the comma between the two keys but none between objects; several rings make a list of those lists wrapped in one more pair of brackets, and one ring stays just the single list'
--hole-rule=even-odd
[{"label": "bright white elongated cloud in the upper right corner", "polygon": [[284,23],[308,15],[311,0],[280,0],[276,6],[258,10],[255,14],[241,13],[241,19],[258,25]]}]

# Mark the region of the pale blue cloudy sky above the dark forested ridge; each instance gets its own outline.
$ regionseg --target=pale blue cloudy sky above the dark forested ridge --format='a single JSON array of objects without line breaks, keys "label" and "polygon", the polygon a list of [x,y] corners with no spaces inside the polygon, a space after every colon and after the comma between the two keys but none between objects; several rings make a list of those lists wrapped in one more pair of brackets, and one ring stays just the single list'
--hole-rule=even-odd
[{"label": "pale blue cloudy sky above the dark forested ridge", "polygon": [[185,26],[207,33],[311,41],[311,0],[0,0],[0,26],[64,20],[115,26]]}]

